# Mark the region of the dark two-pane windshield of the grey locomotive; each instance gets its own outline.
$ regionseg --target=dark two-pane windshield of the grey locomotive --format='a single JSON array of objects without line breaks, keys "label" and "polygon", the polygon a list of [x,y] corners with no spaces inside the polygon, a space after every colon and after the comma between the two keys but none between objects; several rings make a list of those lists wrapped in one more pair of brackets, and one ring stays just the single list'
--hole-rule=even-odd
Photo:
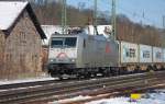
[{"label": "dark two-pane windshield of the grey locomotive", "polygon": [[76,47],[76,37],[53,37],[51,47]]}]

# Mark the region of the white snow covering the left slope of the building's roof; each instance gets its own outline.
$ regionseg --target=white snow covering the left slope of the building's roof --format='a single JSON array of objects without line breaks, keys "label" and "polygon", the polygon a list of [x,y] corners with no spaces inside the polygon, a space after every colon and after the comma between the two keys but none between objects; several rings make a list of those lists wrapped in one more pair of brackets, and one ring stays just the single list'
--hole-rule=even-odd
[{"label": "white snow covering the left slope of the building's roof", "polygon": [[0,1],[0,30],[8,30],[26,4],[23,1]]}]

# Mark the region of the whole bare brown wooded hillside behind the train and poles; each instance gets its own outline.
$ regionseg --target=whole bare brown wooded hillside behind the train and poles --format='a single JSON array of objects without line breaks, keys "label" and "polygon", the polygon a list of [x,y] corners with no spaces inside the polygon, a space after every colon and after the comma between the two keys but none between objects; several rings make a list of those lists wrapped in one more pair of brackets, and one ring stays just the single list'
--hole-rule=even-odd
[{"label": "whole bare brown wooded hillside behind the train and poles", "polygon": [[[1,1],[1,0],[0,0]],[[13,1],[13,0],[11,0]],[[18,1],[18,0],[16,0]],[[22,1],[22,0],[21,0]],[[61,0],[29,0],[42,25],[62,24]],[[84,7],[67,5],[67,25],[84,26],[92,24],[94,10]],[[98,25],[110,24],[110,18],[98,13]],[[165,47],[165,30],[151,25],[134,23],[124,14],[117,15],[117,39],[131,43]]]}]

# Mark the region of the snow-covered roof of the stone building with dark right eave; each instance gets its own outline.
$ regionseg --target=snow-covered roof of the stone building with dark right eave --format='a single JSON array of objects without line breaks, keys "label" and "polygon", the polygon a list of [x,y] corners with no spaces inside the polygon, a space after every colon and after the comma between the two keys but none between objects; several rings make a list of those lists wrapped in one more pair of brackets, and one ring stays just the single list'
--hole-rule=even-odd
[{"label": "snow-covered roof of the stone building with dark right eave", "polygon": [[41,37],[46,38],[32,10],[32,7],[26,1],[0,1],[0,30],[8,32],[12,30],[16,20],[25,9],[28,10],[30,18],[38,31]]}]

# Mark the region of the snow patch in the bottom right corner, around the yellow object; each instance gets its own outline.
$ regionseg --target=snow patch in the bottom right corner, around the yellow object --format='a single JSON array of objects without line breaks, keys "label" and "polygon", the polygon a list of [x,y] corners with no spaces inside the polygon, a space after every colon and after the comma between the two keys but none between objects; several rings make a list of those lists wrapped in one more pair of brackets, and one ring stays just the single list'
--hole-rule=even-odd
[{"label": "snow patch in the bottom right corner, around the yellow object", "polygon": [[130,97],[114,97],[94,101],[86,104],[165,104],[165,90],[146,93],[138,101],[130,101]]}]

